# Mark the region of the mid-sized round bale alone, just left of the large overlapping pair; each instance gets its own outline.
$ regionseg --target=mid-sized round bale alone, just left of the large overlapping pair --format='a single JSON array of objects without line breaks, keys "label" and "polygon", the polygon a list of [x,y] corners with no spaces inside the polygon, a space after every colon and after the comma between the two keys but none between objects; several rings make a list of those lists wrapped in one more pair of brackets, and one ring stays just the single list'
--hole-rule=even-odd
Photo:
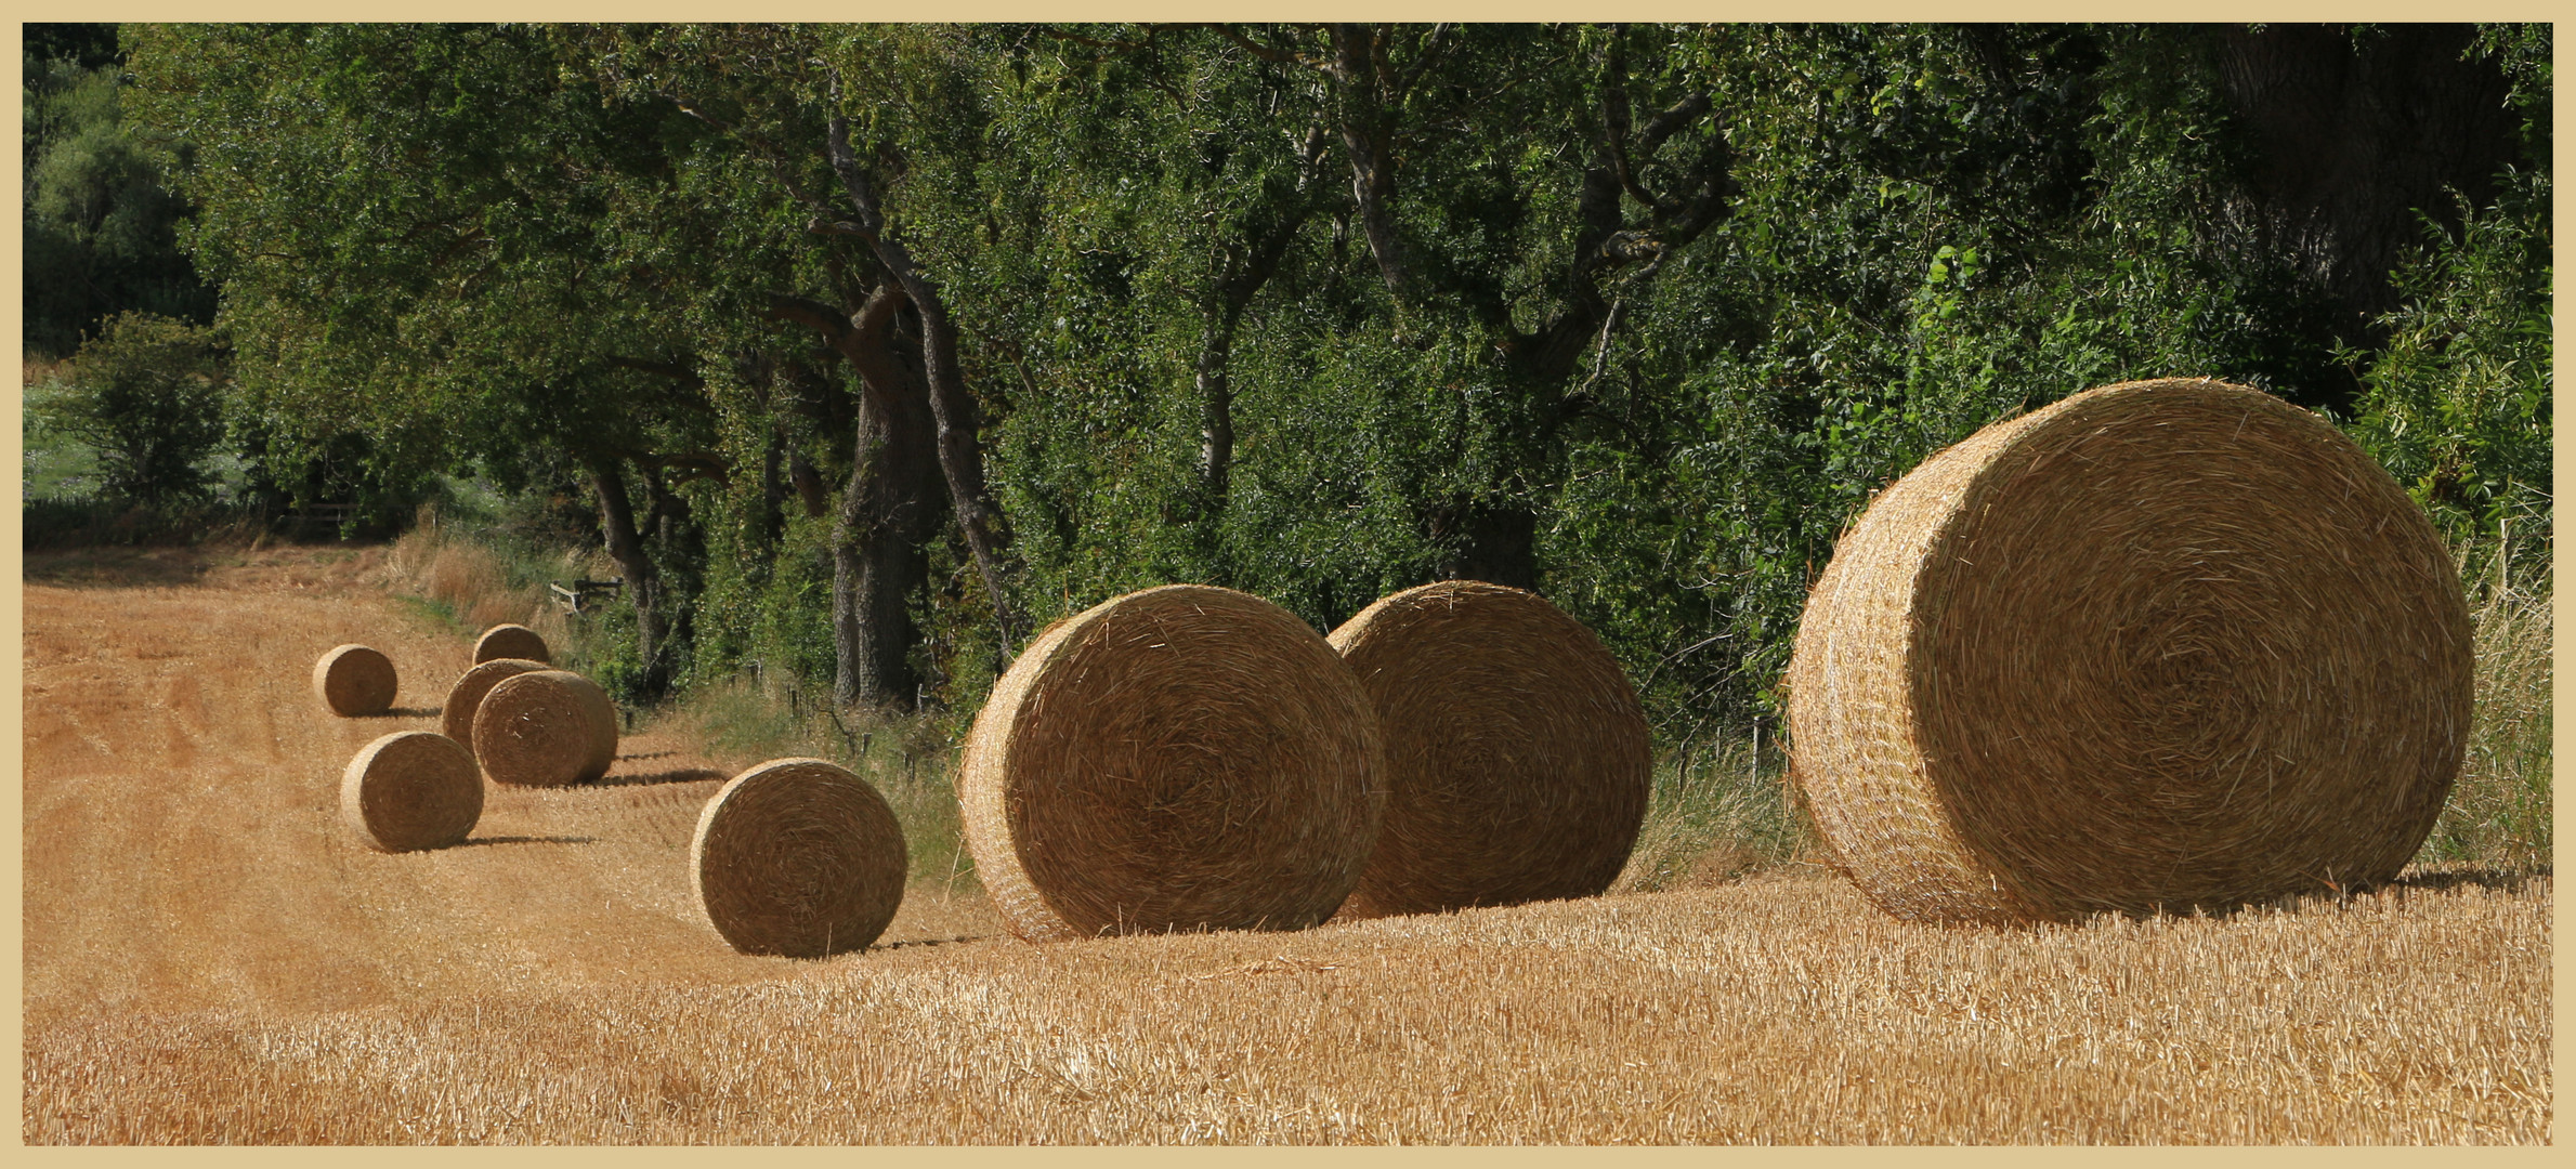
[{"label": "mid-sized round bale alone, just left of the large overlapping pair", "polygon": [[734,775],[698,814],[688,870],[734,950],[863,950],[904,904],[904,827],[886,798],[824,760]]}]

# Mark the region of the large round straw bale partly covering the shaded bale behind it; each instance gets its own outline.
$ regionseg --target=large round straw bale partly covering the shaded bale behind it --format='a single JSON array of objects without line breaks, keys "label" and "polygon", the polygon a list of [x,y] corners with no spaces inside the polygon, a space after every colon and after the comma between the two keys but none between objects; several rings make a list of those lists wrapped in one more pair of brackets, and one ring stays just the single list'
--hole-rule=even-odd
[{"label": "large round straw bale partly covering the shaded bale behind it", "polygon": [[1028,940],[1303,930],[1378,834],[1378,718],[1293,613],[1167,584],[1059,621],[958,760],[976,875]]}]

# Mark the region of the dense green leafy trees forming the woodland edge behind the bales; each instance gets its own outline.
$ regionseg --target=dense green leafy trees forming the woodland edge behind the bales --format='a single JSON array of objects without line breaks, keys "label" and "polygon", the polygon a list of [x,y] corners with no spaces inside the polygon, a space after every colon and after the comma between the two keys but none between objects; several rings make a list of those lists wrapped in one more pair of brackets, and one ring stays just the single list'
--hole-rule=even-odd
[{"label": "dense green leafy trees forming the woodland edge behind the bales", "polygon": [[[126,28],[240,417],[600,525],[629,693],[848,680],[871,579],[907,649],[868,677],[971,703],[1123,590],[1329,628],[1471,574],[1600,631],[1680,749],[1775,716],[1873,492],[2107,381],[2329,409],[2545,548],[2548,28],[2267,36]],[[2509,129],[2383,198],[2393,309],[2223,67],[2388,46]]]}]

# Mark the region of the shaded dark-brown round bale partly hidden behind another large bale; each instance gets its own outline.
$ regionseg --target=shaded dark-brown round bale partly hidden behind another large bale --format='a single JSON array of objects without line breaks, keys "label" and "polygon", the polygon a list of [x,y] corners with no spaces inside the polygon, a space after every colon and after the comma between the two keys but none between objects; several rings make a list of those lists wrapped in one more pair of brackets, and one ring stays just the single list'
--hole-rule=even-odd
[{"label": "shaded dark-brown round bale partly hidden behind another large bale", "polygon": [[1646,711],[1618,659],[1535,592],[1422,584],[1334,628],[1386,742],[1386,824],[1340,917],[1610,888],[1646,819]]}]

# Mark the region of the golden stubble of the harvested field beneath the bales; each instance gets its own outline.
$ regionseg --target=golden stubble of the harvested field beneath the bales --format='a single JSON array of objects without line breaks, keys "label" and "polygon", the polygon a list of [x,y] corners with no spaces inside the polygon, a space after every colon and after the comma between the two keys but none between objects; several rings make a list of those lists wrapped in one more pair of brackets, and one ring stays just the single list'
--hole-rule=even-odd
[{"label": "golden stubble of the harvested field beneath the bales", "polygon": [[464,847],[348,837],[340,767],[438,711],[304,667],[471,657],[371,556],[28,559],[26,1141],[2548,1141],[2548,875],[1989,930],[1788,865],[1061,945],[930,881],[744,958],[688,845],[755,760],[647,731]]}]

